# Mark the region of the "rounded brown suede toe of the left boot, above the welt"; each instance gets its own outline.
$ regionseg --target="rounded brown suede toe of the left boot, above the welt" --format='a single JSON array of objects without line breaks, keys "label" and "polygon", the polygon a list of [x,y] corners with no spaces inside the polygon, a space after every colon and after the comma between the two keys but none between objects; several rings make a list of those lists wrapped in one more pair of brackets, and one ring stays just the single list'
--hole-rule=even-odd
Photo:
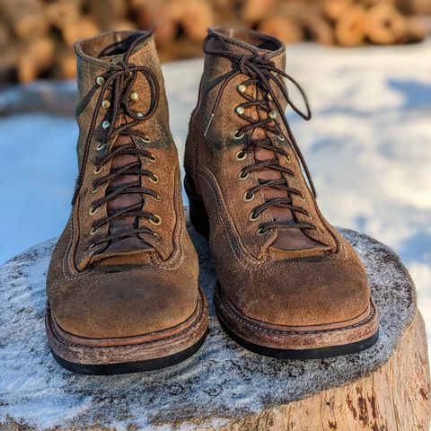
[{"label": "rounded brown suede toe of the left boot, above the welt", "polygon": [[62,330],[91,339],[133,337],[186,321],[198,304],[198,289],[184,271],[110,266],[66,281],[51,303]]}]

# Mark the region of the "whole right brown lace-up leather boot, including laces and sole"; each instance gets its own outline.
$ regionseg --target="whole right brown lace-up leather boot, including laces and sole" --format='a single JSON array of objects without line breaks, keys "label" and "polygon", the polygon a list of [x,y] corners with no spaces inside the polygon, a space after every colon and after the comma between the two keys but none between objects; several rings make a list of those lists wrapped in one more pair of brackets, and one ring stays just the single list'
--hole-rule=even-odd
[{"label": "whole right brown lace-up leather boot, including laces and sole", "polygon": [[[321,216],[286,121],[304,119],[285,48],[255,31],[218,29],[205,41],[198,106],[186,145],[190,218],[209,236],[224,329],[263,355],[353,353],[378,338],[378,314],[356,252]],[[286,78],[303,95],[299,110]],[[303,176],[305,172],[305,177]]]}]

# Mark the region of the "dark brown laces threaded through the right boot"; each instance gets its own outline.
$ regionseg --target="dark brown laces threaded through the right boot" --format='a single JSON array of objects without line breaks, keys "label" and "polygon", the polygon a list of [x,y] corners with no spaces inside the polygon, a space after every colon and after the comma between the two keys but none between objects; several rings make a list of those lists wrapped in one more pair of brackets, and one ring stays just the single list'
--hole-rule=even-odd
[{"label": "dark brown laces threaded through the right boot", "polygon": [[[247,108],[255,107],[256,109],[264,110],[269,114],[272,111],[270,107],[270,103],[271,102],[274,103],[277,113],[279,117],[282,119],[283,124],[286,128],[289,142],[292,145],[295,151],[295,154],[297,155],[298,159],[300,160],[303,166],[303,171],[307,176],[308,183],[310,184],[310,188],[312,189],[312,194],[313,196],[316,196],[316,191],[312,183],[311,173],[303,159],[303,154],[301,153],[301,150],[299,149],[299,146],[295,141],[295,136],[293,135],[292,130],[287,122],[285,112],[280,104],[280,101],[277,100],[277,95],[271,86],[271,82],[276,84],[277,88],[279,89],[282,96],[286,100],[287,105],[290,106],[293,110],[295,110],[295,112],[300,117],[302,117],[305,120],[309,120],[311,119],[312,114],[311,114],[310,106],[308,104],[305,93],[303,92],[303,89],[292,76],[287,75],[283,70],[278,69],[277,66],[275,66],[274,62],[272,62],[267,57],[265,57],[265,55],[260,55],[258,53],[240,55],[240,54],[235,54],[229,50],[207,48],[207,42],[211,38],[219,38],[220,40],[223,40],[218,35],[212,34],[207,36],[207,40],[205,41],[205,44],[204,44],[204,52],[208,55],[212,55],[216,57],[224,57],[224,58],[233,60],[233,62],[236,63],[237,68],[233,69],[233,71],[230,72],[229,74],[224,75],[224,83],[220,86],[220,89],[216,95],[216,101],[214,103],[210,119],[207,123],[207,127],[205,128],[204,135],[207,135],[207,131],[211,125],[212,119],[215,116],[216,110],[221,101],[222,94],[227,84],[229,84],[229,82],[237,75],[250,76],[250,79],[244,81],[242,84],[245,86],[254,84],[262,92],[263,96],[262,96],[262,99],[258,99],[258,98],[254,99],[250,95],[246,94],[245,92],[242,92],[241,95],[246,101],[242,103],[240,106],[242,106],[244,110],[246,110]],[[303,97],[303,101],[305,103],[305,108],[306,108],[305,112],[298,109],[295,103],[289,99],[286,86],[282,78],[280,78],[279,76],[285,77],[288,81],[294,84],[295,87],[298,89],[298,91],[301,93]],[[267,96],[267,97],[264,97],[264,96]],[[246,146],[239,154],[237,154],[240,158],[245,157],[245,155],[248,153],[254,153],[255,150],[259,147],[259,148],[269,150],[275,154],[278,154],[280,158],[286,157],[288,159],[288,154],[286,153],[286,150],[284,150],[282,147],[273,145],[272,141],[268,138],[268,134],[273,134],[277,136],[279,140],[281,141],[285,140],[285,136],[283,135],[282,129],[277,124],[277,121],[275,121],[275,119],[269,117],[269,115],[265,119],[253,119],[245,115],[243,112],[242,113],[237,112],[237,115],[239,115],[242,119],[244,119],[247,124],[245,124],[244,126],[242,126],[241,128],[235,131],[234,137],[236,139],[241,139],[242,136],[244,136],[244,134],[248,132],[250,132],[250,136],[251,136],[252,132],[256,128],[262,129],[267,136],[266,138],[263,138],[263,139],[251,139],[249,137]],[[302,207],[298,207],[297,205],[293,204],[291,195],[295,194],[300,198],[304,198],[303,193],[301,192],[301,190],[295,189],[295,187],[289,186],[288,180],[287,180],[288,177],[292,178],[293,180],[297,180],[295,178],[295,172],[282,166],[278,158],[274,158],[271,160],[263,160],[263,161],[255,160],[255,163],[249,166],[246,166],[242,169],[242,172],[240,172],[240,177],[242,179],[246,178],[250,172],[257,172],[262,168],[281,172],[282,174],[284,173],[286,174],[286,177],[283,177],[277,180],[259,180],[259,184],[257,186],[247,191],[245,198],[251,199],[256,192],[268,187],[274,188],[274,189],[286,190],[287,196],[284,198],[268,199],[263,204],[259,205],[258,207],[255,207],[251,213],[252,219],[254,220],[258,219],[260,214],[266,209],[268,209],[269,207],[288,208],[293,213],[302,213],[303,215],[311,218],[311,215],[309,214],[308,211],[306,211]],[[312,223],[297,223],[295,221],[293,222],[272,221],[272,222],[259,224],[258,233],[265,233],[268,229],[275,229],[275,228],[316,229],[316,227]]]}]

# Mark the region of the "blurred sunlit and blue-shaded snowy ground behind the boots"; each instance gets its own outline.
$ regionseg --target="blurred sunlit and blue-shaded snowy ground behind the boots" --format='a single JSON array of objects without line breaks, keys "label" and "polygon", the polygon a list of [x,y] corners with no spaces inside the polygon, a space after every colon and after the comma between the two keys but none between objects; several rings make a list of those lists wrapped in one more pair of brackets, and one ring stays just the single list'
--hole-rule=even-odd
[{"label": "blurred sunlit and blue-shaded snowy ground behind the boots", "polygon": [[[163,67],[181,159],[201,69],[201,60]],[[312,104],[310,123],[289,119],[323,214],[400,254],[431,336],[431,42],[290,46],[287,70]],[[61,232],[75,182],[77,128],[74,119],[27,114],[1,118],[0,132],[1,263]]]}]

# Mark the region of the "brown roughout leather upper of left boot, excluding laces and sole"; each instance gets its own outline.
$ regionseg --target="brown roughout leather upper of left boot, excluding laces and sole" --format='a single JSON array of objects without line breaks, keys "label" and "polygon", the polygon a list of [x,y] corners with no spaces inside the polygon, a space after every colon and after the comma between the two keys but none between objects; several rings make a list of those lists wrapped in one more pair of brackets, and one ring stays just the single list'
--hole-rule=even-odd
[{"label": "brown roughout leather upper of left boot, excluding laces and sole", "polygon": [[[77,155],[80,165],[85,154],[85,138],[101,92],[96,78],[109,72],[112,64],[120,62],[124,56],[123,50],[143,34],[111,32],[75,45],[79,90],[77,122],[80,129]],[[121,52],[117,49],[110,55],[101,56],[116,45],[124,45]],[[101,128],[101,122],[110,116],[110,110],[101,109],[88,157],[83,164],[84,180],[70,219],[52,255],[47,279],[48,304],[57,325],[66,332],[90,339],[132,337],[166,330],[186,321],[198,304],[198,257],[185,226],[178,156],[169,130],[162,71],[153,37],[149,33],[136,46],[129,63],[151,69],[160,87],[154,115],[136,126],[151,138],[150,143],[136,145],[144,145],[145,150],[154,155],[155,161],[151,162],[142,155],[136,155],[136,160],[159,178],[157,183],[153,183],[145,175],[139,175],[141,187],[153,189],[161,201],[149,196],[137,198],[143,202],[142,210],[157,214],[162,218],[162,223],[150,224],[148,219],[141,217],[139,226],[151,228],[157,236],[137,233],[134,237],[91,249],[92,242],[99,235],[107,234],[112,229],[112,223],[108,223],[96,234],[91,234],[92,225],[99,217],[107,215],[109,205],[105,203],[96,214],[89,214],[94,200],[102,198],[108,187],[105,183],[92,192],[93,181],[109,174],[121,163],[129,162],[127,158],[118,157],[106,163],[101,172],[94,172],[100,157],[110,151],[109,145],[98,150],[106,133]],[[144,77],[139,75],[136,78],[133,91],[140,95],[134,109],[145,112],[151,95]],[[108,92],[106,99],[111,100],[111,97]],[[113,145],[116,139],[113,138]],[[136,195],[120,197],[115,205],[128,205],[128,202],[134,202],[130,199],[136,198]],[[134,217],[122,217],[115,228],[127,227],[130,218]]]}]

